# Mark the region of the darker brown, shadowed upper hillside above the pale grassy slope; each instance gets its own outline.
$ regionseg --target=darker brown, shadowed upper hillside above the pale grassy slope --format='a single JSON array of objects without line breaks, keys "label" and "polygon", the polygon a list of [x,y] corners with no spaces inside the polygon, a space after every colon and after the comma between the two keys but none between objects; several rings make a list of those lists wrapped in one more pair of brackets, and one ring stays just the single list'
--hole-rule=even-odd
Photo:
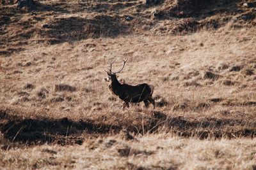
[{"label": "darker brown, shadowed upper hillside above the pale grassy slope", "polygon": [[243,1],[40,1],[33,10],[1,6],[0,54],[35,43],[63,43],[120,34],[187,34],[201,29],[255,25],[255,2]]}]

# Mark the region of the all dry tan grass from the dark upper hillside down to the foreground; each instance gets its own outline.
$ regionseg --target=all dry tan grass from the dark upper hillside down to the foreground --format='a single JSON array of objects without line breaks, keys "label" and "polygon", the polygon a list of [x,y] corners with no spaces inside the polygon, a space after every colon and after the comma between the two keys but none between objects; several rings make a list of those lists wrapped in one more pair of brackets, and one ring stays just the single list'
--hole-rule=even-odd
[{"label": "all dry tan grass from the dark upper hillside down to the foreground", "polygon": [[[20,144],[53,144],[16,148],[19,145],[10,141],[3,143],[2,148],[14,147],[4,151],[3,157],[9,155],[15,162],[3,159],[3,165],[10,169],[65,165],[76,169],[255,168],[255,143],[253,139],[243,138],[255,136],[256,128],[255,76],[244,72],[246,69],[255,72],[255,41],[255,29],[226,27],[187,36],[87,39],[37,46],[2,58],[1,110],[7,115],[1,125],[4,128],[14,125],[12,132],[5,133],[6,138]],[[102,81],[106,76],[103,69],[114,57],[129,58],[118,75],[125,83],[147,82],[155,86],[153,96],[159,104],[156,110],[145,110],[141,104],[121,109],[121,101],[109,93],[108,84]],[[28,62],[31,64],[25,66]],[[241,66],[241,70],[231,71],[233,66]],[[206,71],[218,74],[218,78],[205,76]],[[223,83],[227,80],[234,84]],[[61,84],[76,90],[55,90]],[[84,145],[58,146],[87,143],[87,138],[111,136],[122,129],[141,135],[154,132],[154,136],[141,138],[140,143],[120,141],[122,147],[138,146],[139,150],[148,147],[154,154],[139,152],[139,156],[120,157],[116,149],[119,144],[108,149],[101,148],[102,145],[97,152],[84,149]],[[163,137],[163,131],[184,137],[233,139],[177,139]],[[156,139],[159,135],[162,137]],[[185,145],[184,148],[175,148],[177,143]],[[166,149],[156,149],[161,145]],[[56,159],[51,159],[52,153],[40,154],[45,148],[57,150]],[[170,157],[173,159],[167,159]],[[93,163],[99,160],[102,164]]]}]

